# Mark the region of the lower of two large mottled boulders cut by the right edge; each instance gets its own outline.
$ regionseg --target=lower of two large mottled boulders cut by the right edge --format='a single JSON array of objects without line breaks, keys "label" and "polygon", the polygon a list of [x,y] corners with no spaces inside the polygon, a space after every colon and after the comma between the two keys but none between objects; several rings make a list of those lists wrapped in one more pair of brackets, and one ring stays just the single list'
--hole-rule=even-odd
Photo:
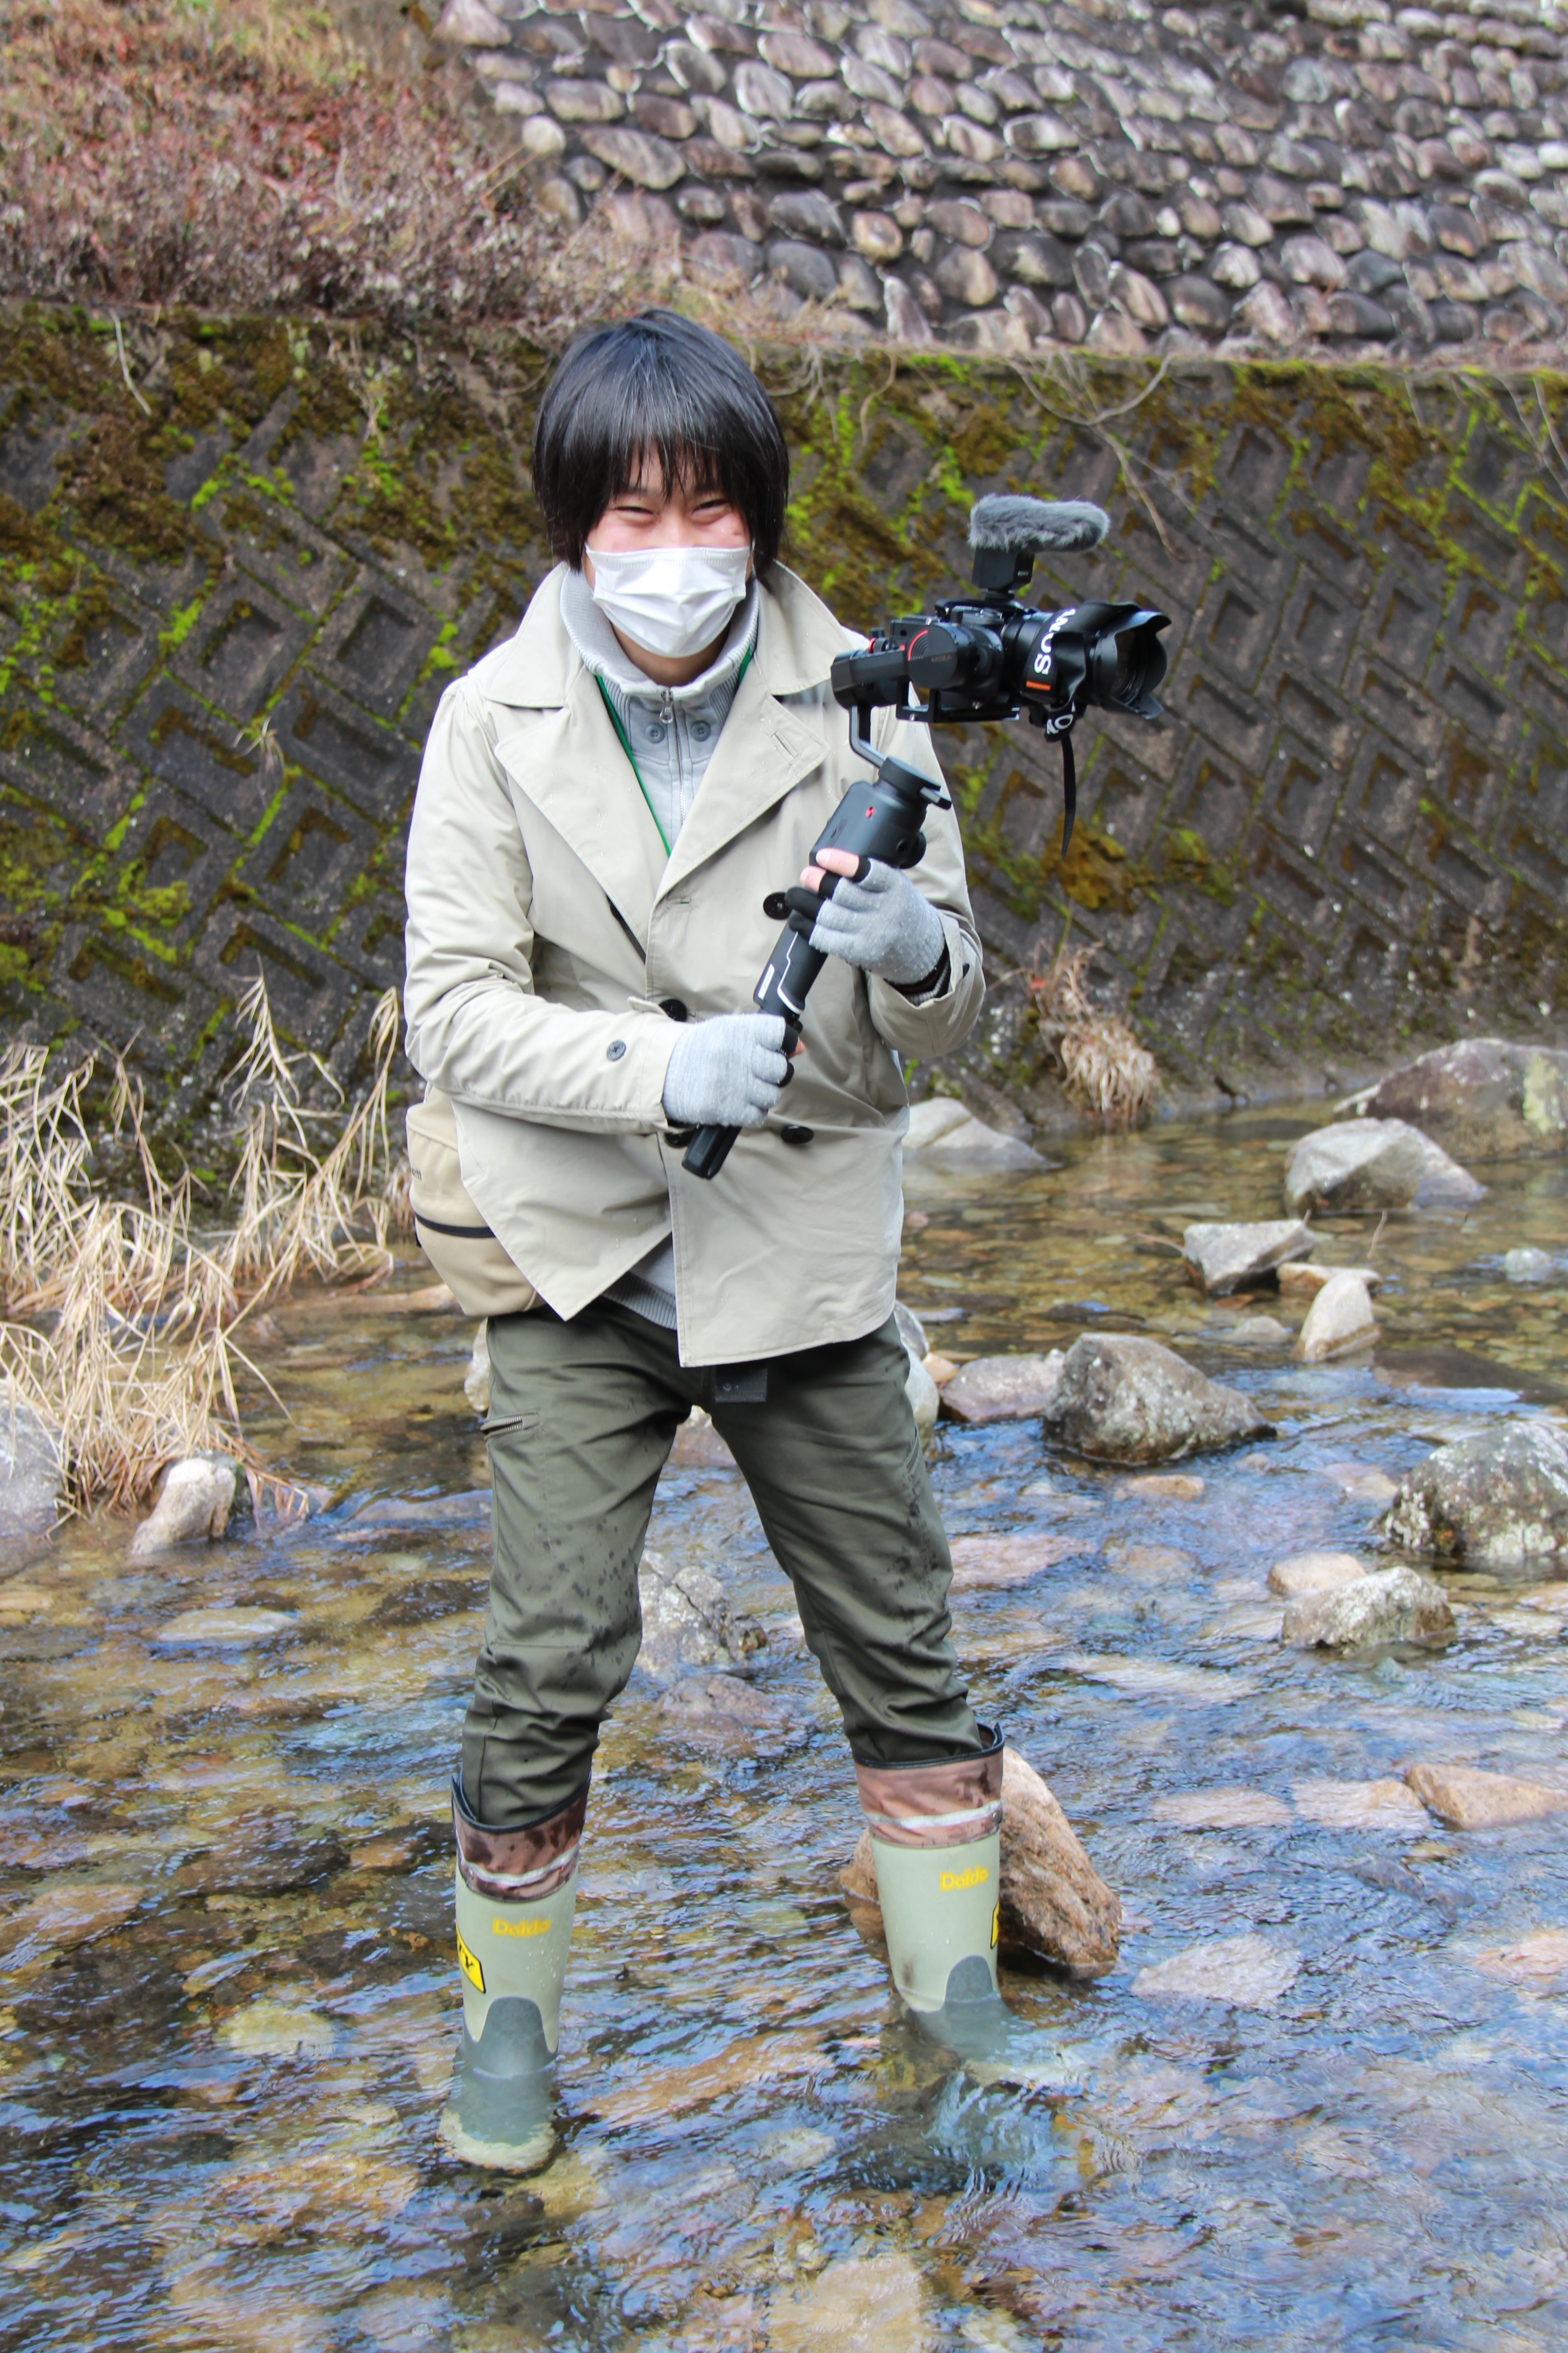
[{"label": "lower of two large mottled boulders cut by the right edge", "polygon": [[1406,1471],[1385,1534],[1467,1567],[1568,1555],[1568,1438],[1552,1421],[1509,1421],[1439,1447]]}]

